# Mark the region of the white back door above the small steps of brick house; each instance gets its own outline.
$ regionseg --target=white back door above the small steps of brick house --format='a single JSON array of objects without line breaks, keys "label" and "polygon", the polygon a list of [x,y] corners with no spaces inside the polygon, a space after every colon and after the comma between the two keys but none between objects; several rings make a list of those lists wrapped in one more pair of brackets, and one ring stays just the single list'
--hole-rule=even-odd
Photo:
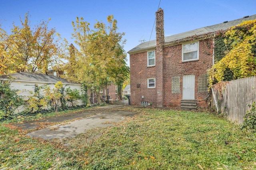
[{"label": "white back door above the small steps of brick house", "polygon": [[183,76],[182,99],[195,99],[195,75]]}]

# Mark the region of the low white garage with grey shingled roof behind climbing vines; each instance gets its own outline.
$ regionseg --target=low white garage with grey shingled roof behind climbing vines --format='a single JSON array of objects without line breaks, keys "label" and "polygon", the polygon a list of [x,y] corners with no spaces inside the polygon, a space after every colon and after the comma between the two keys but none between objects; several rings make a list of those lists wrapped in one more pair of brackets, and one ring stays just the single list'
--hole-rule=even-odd
[{"label": "low white garage with grey shingled roof behind climbing vines", "polygon": [[[19,90],[18,95],[23,96],[24,100],[28,100],[28,96],[33,95],[32,93],[34,93],[35,84],[38,86],[44,86],[48,84],[50,88],[53,89],[55,88],[54,84],[56,84],[58,81],[62,82],[65,89],[68,87],[70,87],[71,90],[77,89],[79,90],[80,94],[82,94],[81,84],[70,83],[60,77],[28,72],[14,73],[10,74],[10,76],[12,77],[11,79],[8,78],[8,76],[1,77],[1,79],[11,82],[11,88]],[[78,105],[82,104],[82,100],[78,100]],[[22,109],[23,108],[20,107],[19,111],[22,111]]]}]

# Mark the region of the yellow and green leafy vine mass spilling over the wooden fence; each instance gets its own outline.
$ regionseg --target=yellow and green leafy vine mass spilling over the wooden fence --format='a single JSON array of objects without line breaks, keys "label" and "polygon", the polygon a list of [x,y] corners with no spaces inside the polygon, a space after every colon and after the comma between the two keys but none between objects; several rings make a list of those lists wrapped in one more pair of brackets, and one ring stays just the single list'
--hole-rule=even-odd
[{"label": "yellow and green leafy vine mass spilling over the wooden fence", "polygon": [[233,80],[256,75],[256,20],[230,27],[224,43],[229,47],[226,55],[208,71],[210,87],[224,80],[226,70],[232,72]]}]

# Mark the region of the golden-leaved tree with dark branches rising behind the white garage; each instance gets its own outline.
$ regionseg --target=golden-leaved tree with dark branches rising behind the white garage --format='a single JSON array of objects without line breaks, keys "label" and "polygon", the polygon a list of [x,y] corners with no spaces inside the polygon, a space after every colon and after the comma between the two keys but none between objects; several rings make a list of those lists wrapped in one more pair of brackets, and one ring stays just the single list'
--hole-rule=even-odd
[{"label": "golden-leaved tree with dark branches rising behind the white garage", "polygon": [[21,26],[13,25],[9,36],[17,48],[19,61],[26,66],[17,68],[16,72],[43,72],[48,74],[48,66],[61,62],[60,36],[55,28],[48,28],[48,21],[40,21],[31,27],[28,13],[24,21],[20,18]]}]

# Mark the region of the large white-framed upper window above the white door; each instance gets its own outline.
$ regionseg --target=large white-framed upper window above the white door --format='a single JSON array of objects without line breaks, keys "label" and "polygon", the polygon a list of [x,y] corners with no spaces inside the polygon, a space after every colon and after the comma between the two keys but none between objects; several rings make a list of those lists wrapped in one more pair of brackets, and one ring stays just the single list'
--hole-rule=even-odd
[{"label": "large white-framed upper window above the white door", "polygon": [[199,42],[182,45],[182,61],[193,61],[199,59]]}]

